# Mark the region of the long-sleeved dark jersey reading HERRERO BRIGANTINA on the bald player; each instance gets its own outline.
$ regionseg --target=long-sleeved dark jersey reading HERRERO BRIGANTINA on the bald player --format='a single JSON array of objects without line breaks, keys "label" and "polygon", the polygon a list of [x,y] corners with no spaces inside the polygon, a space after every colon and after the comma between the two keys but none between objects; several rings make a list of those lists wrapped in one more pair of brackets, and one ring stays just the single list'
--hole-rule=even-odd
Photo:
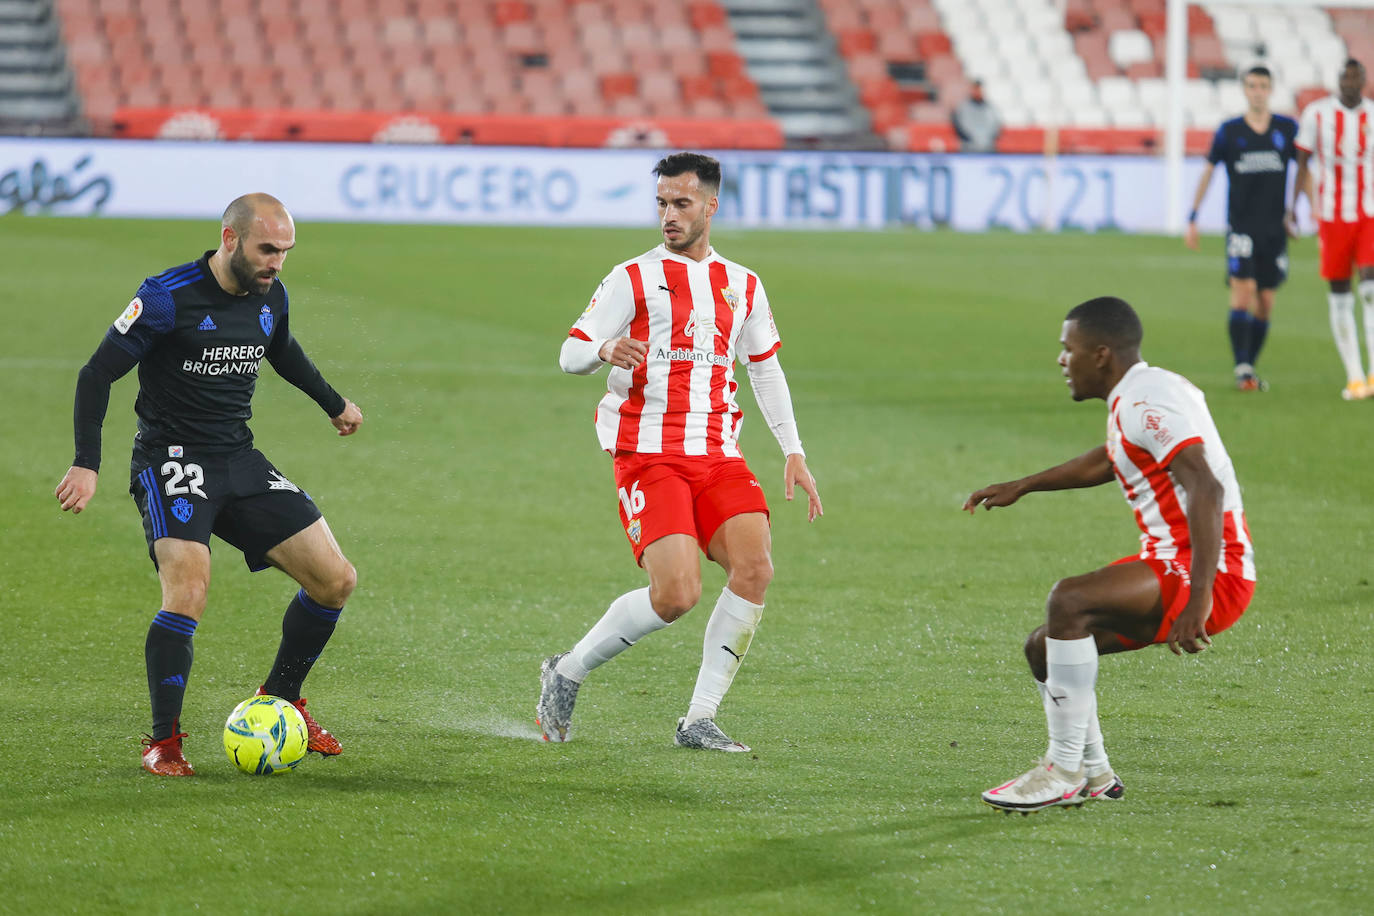
[{"label": "long-sleeved dark jersey reading HERRERO BRIGANTINA on the bald player", "polygon": [[247,420],[262,360],[330,416],[344,411],[344,398],[291,336],[282,282],[265,294],[231,295],[210,272],[210,254],[146,279],[106,332],[77,385],[76,464],[99,468],[109,386],[135,364],[133,409],[146,445],[251,446]]}]

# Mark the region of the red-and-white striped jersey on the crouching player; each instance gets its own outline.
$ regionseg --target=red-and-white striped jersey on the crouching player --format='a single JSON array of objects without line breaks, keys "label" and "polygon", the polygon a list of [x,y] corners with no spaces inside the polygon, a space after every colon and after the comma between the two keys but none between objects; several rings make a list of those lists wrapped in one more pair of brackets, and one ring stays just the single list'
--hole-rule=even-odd
[{"label": "red-and-white striped jersey on the crouching player", "polygon": [[1254,581],[1241,486],[1202,391],[1176,372],[1140,361],[1112,389],[1107,405],[1107,457],[1140,526],[1140,559],[1168,560],[1189,551],[1189,494],[1169,472],[1169,461],[1201,442],[1224,490],[1217,571]]}]

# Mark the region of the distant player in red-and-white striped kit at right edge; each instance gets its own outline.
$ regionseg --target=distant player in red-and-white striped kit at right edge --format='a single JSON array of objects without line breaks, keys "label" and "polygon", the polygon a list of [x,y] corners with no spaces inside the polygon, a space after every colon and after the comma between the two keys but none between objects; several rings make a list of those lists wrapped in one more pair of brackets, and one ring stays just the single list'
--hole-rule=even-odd
[{"label": "distant player in red-and-white striped kit at right edge", "polygon": [[[1364,65],[1359,60],[1345,62],[1338,85],[1337,95],[1307,106],[1298,121],[1293,206],[1307,192],[1318,221],[1322,279],[1331,286],[1331,335],[1345,367],[1341,397],[1359,401],[1374,396],[1374,102],[1363,98]],[[1311,161],[1316,163],[1315,190],[1308,187]],[[1369,376],[1355,330],[1352,264],[1360,272]]]}]

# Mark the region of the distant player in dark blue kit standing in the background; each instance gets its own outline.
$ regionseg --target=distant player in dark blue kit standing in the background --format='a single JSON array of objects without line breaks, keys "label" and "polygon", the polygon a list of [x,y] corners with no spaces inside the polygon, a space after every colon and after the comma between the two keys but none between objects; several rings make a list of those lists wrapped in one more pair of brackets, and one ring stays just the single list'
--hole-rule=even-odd
[{"label": "distant player in dark blue kit standing in the background", "polygon": [[1274,291],[1287,277],[1287,239],[1297,235],[1287,199],[1287,166],[1297,155],[1297,121],[1270,113],[1274,89],[1267,67],[1250,67],[1242,78],[1246,111],[1226,121],[1212,139],[1208,163],[1198,179],[1193,211],[1183,239],[1198,247],[1198,207],[1212,181],[1212,169],[1226,163],[1230,192],[1226,206],[1226,264],[1231,286],[1231,356],[1235,385],[1242,391],[1264,387],[1254,364],[1270,332]]}]

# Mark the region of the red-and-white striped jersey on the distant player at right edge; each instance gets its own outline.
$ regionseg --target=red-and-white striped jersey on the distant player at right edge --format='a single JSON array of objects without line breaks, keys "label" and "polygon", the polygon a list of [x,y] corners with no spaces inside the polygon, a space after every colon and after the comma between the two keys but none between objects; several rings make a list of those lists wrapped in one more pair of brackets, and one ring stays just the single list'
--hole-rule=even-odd
[{"label": "red-and-white striped jersey on the distant player at right edge", "polygon": [[1347,108],[1334,96],[1307,106],[1297,147],[1312,154],[1312,216],[1322,222],[1374,217],[1374,102]]}]

